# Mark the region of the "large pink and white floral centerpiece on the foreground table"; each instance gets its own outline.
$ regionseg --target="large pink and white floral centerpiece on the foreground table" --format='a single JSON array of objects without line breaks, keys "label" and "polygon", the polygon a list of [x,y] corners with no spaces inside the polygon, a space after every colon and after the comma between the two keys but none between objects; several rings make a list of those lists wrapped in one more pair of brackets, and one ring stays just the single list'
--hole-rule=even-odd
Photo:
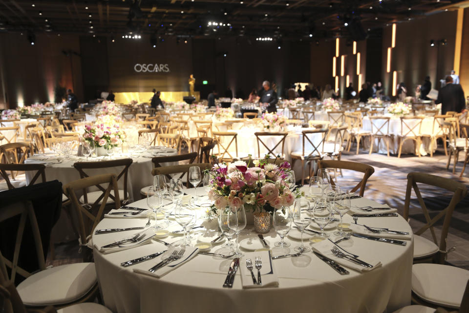
[{"label": "large pink and white floral centerpiece on the foreground table", "polygon": [[[270,216],[276,209],[293,205],[295,198],[304,195],[298,191],[291,191],[285,179],[292,171],[290,163],[283,162],[279,166],[269,162],[269,155],[252,161],[235,161],[229,166],[226,163],[215,164],[211,170],[211,189],[208,193],[214,201],[209,211],[209,218],[218,215],[218,210],[224,210],[232,205],[236,208],[242,204],[254,213],[256,220],[263,222],[262,229],[256,231],[267,232],[270,227]],[[253,167],[250,167],[253,166]],[[265,227],[268,217],[268,227]],[[257,226],[257,225],[256,225]]]}]

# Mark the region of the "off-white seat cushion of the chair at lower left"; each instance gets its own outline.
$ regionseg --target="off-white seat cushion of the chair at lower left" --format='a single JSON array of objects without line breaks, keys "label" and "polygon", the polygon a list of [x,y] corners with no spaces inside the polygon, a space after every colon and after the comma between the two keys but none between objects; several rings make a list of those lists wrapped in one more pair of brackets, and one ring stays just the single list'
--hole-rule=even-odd
[{"label": "off-white seat cushion of the chair at lower left", "polygon": [[17,289],[29,306],[70,303],[83,297],[98,282],[94,263],[48,268],[22,281]]}]

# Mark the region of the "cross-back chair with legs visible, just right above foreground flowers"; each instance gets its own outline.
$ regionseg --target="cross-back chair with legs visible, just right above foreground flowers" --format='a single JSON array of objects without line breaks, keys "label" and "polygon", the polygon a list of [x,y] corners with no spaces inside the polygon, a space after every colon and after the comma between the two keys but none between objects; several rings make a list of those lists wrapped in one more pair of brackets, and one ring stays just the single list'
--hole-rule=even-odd
[{"label": "cross-back chair with legs visible, just right above foreground flowers", "polygon": [[[327,128],[307,130],[301,132],[303,135],[303,150],[298,152],[292,152],[290,154],[290,157],[292,158],[292,168],[297,160],[301,161],[301,184],[304,183],[304,162],[306,161],[306,163],[309,164],[308,173],[311,177],[313,173],[311,170],[313,162],[317,162],[322,159],[322,146],[324,145],[324,139],[326,138],[327,132]],[[312,134],[320,134],[320,142],[315,142],[313,138],[310,138],[310,136],[314,136]],[[312,149],[306,149],[307,144],[311,145]]]}]

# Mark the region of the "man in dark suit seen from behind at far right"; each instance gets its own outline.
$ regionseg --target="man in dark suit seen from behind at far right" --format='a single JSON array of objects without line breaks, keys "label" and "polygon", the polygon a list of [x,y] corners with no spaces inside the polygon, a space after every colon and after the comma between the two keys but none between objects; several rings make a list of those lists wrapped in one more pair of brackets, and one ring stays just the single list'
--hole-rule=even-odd
[{"label": "man in dark suit seen from behind at far right", "polygon": [[446,86],[438,92],[436,104],[441,103],[441,113],[446,114],[448,111],[464,112],[466,111],[466,100],[464,91],[459,84],[453,84],[451,76],[446,77]]}]

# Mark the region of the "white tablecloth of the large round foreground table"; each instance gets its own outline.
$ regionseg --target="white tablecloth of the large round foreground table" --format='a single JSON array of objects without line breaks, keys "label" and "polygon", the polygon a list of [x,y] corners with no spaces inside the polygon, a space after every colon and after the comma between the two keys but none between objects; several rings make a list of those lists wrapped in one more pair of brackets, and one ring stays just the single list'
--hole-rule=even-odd
[{"label": "white tablecloth of the large round foreground table", "polygon": [[[198,193],[202,194],[202,189],[199,188]],[[192,195],[193,189],[187,193]],[[133,206],[148,208],[145,200],[137,201]],[[96,229],[137,227],[145,225],[146,221],[146,218],[105,218]],[[351,216],[345,215],[344,221],[352,222]],[[202,224],[206,229],[217,228],[213,221],[205,220]],[[366,218],[366,224],[411,233],[410,226],[401,216]],[[258,240],[253,227],[248,224],[240,234],[240,240]],[[172,221],[168,230],[180,228]],[[204,231],[192,230],[194,238]],[[297,258],[272,261],[278,275],[278,288],[243,289],[238,270],[233,288],[227,289],[222,285],[232,258],[196,255],[167,275],[155,278],[133,269],[149,269],[159,262],[158,258],[127,268],[121,267],[120,263],[166,250],[163,244],[150,240],[143,246],[106,254],[96,248],[134,232],[99,234],[92,238],[104,302],[113,312],[393,312],[410,304],[413,241],[398,246],[352,237],[343,242],[346,244],[342,247],[362,258],[376,258],[382,262],[382,267],[364,273],[350,269],[349,275],[340,275],[312,252],[307,252]],[[170,235],[163,240],[171,243],[180,238]],[[264,234],[264,238],[271,245],[279,241],[273,229]],[[333,235],[331,238],[336,239]],[[285,240],[291,243],[290,249],[299,245],[298,240],[290,237]],[[212,252],[216,249],[214,246]]]}]

